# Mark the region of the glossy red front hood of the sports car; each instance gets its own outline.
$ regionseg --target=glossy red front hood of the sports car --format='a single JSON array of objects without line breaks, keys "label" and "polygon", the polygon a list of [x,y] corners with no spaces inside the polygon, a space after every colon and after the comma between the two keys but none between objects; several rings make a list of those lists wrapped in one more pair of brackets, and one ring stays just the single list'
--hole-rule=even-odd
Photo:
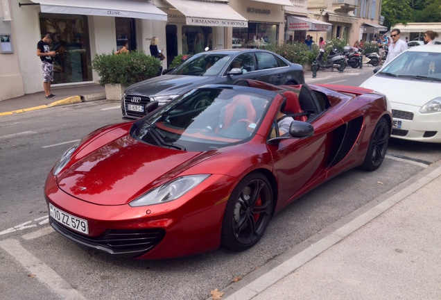
[{"label": "glossy red front hood of the sports car", "polygon": [[122,205],[211,155],[159,148],[124,135],[82,156],[58,176],[58,186],[83,201]]}]

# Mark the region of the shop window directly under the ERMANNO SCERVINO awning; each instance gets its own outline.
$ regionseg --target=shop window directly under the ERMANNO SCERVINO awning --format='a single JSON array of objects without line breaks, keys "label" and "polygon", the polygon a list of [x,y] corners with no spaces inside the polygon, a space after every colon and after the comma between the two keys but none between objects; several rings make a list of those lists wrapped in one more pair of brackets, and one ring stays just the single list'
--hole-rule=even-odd
[{"label": "shop window directly under the ERMANNO SCERVINO awning", "polygon": [[213,32],[211,27],[182,26],[182,54],[196,54],[213,48]]}]

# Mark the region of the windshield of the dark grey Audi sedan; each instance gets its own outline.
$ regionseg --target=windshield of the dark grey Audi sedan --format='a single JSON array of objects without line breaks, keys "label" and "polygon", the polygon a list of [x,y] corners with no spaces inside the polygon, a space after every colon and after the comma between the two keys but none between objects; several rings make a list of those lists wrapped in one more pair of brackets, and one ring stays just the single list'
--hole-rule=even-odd
[{"label": "windshield of the dark grey Audi sedan", "polygon": [[175,67],[175,69],[168,74],[218,76],[230,58],[231,55],[213,53],[193,56],[184,61],[184,63],[178,65],[178,67]]}]

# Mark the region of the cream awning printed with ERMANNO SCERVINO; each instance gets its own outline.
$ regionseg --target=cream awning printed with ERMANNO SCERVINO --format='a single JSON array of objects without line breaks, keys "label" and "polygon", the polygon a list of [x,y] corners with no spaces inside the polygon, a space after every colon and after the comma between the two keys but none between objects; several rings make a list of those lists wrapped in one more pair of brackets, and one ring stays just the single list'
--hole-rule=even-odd
[{"label": "cream awning printed with ERMANNO SCERVINO", "polygon": [[166,0],[185,15],[187,25],[248,27],[248,19],[225,2]]}]

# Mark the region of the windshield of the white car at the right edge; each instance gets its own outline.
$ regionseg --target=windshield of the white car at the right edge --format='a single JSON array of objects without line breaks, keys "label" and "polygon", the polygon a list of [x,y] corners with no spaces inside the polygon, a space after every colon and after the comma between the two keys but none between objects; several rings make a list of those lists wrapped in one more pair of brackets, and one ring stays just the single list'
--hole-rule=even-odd
[{"label": "windshield of the white car at the right edge", "polygon": [[406,51],[386,65],[379,74],[441,81],[441,53]]}]

